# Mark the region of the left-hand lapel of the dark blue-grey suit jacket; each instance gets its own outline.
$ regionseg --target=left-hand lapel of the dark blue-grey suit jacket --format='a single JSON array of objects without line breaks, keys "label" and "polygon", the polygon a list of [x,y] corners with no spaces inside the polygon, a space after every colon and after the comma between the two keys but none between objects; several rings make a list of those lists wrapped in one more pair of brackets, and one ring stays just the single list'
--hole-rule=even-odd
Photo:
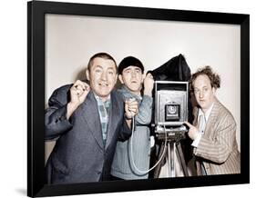
[{"label": "left-hand lapel of the dark blue-grey suit jacket", "polygon": [[86,101],[82,104],[83,108],[83,117],[90,133],[94,136],[97,141],[97,144],[104,149],[103,146],[103,137],[102,129],[100,124],[100,118],[97,110],[97,101],[92,92],[87,94]]}]

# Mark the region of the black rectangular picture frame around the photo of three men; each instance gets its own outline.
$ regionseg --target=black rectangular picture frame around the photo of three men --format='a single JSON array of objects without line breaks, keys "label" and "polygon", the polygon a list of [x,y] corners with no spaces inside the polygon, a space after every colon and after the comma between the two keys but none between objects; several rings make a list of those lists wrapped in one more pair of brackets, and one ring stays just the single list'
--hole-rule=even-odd
[{"label": "black rectangular picture frame around the photo of three men", "polygon": [[[46,185],[45,15],[90,15],[241,25],[241,173],[202,177]],[[250,183],[250,15],[114,5],[27,3],[27,195],[56,196]]]}]

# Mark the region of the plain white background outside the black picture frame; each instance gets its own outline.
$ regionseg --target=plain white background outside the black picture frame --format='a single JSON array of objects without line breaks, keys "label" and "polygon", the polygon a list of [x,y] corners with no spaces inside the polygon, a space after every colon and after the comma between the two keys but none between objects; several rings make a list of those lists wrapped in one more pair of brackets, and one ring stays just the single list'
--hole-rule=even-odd
[{"label": "plain white background outside the black picture frame", "polygon": [[[107,5],[159,7],[179,10],[199,10],[251,15],[251,183],[159,191],[87,194],[72,197],[232,197],[253,196],[256,192],[256,119],[255,64],[256,11],[251,0],[67,0]],[[26,1],[13,0],[1,4],[1,197],[26,197]],[[189,62],[191,60],[189,59]],[[242,134],[243,132],[241,132]],[[71,196],[62,196],[63,198]]]}]

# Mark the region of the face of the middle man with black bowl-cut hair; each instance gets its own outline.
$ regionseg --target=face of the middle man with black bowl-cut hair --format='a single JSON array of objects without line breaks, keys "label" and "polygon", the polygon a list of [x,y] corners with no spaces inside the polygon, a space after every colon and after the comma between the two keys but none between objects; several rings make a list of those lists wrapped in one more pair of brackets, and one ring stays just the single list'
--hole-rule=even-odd
[{"label": "face of the middle man with black bowl-cut hair", "polygon": [[122,84],[128,87],[128,90],[133,94],[140,94],[143,82],[143,74],[138,66],[126,67],[122,74],[118,75],[119,80]]}]

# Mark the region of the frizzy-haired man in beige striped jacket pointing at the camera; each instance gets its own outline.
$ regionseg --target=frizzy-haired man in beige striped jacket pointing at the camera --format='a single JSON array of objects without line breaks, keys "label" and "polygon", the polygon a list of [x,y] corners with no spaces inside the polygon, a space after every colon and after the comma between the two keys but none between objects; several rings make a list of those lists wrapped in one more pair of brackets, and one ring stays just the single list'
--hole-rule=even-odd
[{"label": "frizzy-haired man in beige striped jacket pointing at the camera", "polygon": [[189,137],[198,175],[241,173],[241,156],[236,142],[236,123],[230,111],[215,96],[220,76],[210,66],[200,69],[190,80],[198,106],[194,108]]}]

